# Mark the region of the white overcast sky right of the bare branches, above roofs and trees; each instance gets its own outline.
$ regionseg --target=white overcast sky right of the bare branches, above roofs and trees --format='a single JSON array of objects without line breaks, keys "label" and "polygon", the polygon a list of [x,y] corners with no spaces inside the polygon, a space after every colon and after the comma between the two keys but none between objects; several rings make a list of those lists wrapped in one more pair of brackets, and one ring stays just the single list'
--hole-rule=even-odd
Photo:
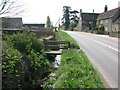
[{"label": "white overcast sky right of the bare branches, above roofs and trees", "polygon": [[108,10],[118,7],[120,0],[23,0],[24,7],[27,8],[23,14],[23,23],[45,23],[47,16],[50,16],[55,25],[58,18],[62,18],[63,6],[71,6],[73,10],[82,9],[83,12],[102,13],[104,6],[108,5]]}]

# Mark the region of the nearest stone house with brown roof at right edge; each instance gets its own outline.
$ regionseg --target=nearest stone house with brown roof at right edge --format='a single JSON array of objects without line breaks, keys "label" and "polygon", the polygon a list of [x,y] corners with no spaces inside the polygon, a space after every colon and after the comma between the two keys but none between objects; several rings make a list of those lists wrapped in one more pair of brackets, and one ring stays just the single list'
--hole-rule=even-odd
[{"label": "nearest stone house with brown roof at right edge", "polygon": [[120,30],[120,7],[107,11],[106,5],[104,12],[98,16],[97,20],[104,26],[106,32]]}]

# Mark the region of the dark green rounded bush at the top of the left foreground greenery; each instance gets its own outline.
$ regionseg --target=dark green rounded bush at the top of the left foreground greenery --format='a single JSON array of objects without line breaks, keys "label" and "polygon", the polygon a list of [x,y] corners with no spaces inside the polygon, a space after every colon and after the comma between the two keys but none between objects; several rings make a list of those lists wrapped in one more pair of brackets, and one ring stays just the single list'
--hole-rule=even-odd
[{"label": "dark green rounded bush at the top of the left foreground greenery", "polygon": [[12,42],[14,47],[20,52],[26,53],[30,48],[36,52],[44,49],[43,42],[39,41],[34,33],[23,32],[7,37],[9,42]]}]

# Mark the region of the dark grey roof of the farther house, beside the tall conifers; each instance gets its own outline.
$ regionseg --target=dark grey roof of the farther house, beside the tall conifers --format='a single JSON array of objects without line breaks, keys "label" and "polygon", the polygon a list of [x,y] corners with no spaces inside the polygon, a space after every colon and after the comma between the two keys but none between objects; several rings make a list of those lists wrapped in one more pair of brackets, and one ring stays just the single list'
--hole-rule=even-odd
[{"label": "dark grey roof of the farther house, beside the tall conifers", "polygon": [[98,13],[81,13],[82,20],[96,20]]}]

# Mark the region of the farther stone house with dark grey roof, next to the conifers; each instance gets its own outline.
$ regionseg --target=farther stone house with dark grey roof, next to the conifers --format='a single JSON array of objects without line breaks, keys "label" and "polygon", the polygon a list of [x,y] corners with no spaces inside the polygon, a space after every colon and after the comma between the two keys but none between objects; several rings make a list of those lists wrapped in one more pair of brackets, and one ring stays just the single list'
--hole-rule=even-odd
[{"label": "farther stone house with dark grey roof, next to the conifers", "polygon": [[98,17],[98,13],[83,13],[82,9],[80,9],[80,16],[77,25],[78,30],[89,30],[95,29],[96,26],[96,19]]}]

